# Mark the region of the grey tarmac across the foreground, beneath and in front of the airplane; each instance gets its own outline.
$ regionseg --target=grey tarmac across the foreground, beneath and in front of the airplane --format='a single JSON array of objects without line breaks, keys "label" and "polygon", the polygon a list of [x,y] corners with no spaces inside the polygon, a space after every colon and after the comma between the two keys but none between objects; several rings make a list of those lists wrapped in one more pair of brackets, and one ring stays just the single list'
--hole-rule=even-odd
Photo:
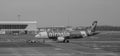
[{"label": "grey tarmac across the foreground, beneath and in front of the airplane", "polygon": [[[91,36],[88,39],[99,39]],[[120,41],[71,39],[70,43],[0,42],[0,56],[120,56]]]}]

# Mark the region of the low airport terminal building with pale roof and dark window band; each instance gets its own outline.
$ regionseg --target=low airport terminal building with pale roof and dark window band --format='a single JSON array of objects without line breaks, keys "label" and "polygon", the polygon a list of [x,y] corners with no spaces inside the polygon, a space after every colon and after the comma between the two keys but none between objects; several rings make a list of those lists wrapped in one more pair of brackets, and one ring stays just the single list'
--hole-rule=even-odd
[{"label": "low airport terminal building with pale roof and dark window band", "polygon": [[33,34],[37,21],[0,21],[0,34]]}]

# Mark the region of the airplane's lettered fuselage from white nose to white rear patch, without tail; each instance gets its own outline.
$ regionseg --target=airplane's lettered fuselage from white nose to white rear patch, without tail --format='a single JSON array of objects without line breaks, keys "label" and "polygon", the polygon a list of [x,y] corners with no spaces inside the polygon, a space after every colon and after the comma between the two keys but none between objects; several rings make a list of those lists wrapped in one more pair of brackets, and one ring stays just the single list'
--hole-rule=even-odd
[{"label": "airplane's lettered fuselage from white nose to white rear patch, without tail", "polygon": [[39,32],[35,35],[36,38],[57,38],[57,37],[70,37],[72,35],[78,35],[82,37],[86,37],[86,31],[77,31],[74,34],[72,32]]}]

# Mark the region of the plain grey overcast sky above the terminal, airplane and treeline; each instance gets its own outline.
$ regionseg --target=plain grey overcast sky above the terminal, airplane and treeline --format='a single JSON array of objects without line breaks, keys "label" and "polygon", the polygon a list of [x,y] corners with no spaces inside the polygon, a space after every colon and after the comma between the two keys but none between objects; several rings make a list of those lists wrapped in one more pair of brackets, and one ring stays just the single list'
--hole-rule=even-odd
[{"label": "plain grey overcast sky above the terminal, airplane and treeline", "polygon": [[38,26],[88,26],[94,20],[120,26],[120,0],[0,0],[0,21],[17,20],[36,20]]}]

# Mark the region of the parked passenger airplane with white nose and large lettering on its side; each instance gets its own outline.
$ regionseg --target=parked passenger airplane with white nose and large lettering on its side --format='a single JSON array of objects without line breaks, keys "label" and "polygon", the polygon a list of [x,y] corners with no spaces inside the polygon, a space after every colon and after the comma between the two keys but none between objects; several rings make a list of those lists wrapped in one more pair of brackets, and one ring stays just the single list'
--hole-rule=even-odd
[{"label": "parked passenger airplane with white nose and large lettering on its side", "polygon": [[[97,26],[97,21],[94,21],[90,27],[86,27],[84,29],[79,29],[79,30],[73,30],[73,31],[43,31],[39,32],[38,34],[35,35],[35,38],[39,39],[52,39],[57,42],[62,42],[62,43],[69,43],[70,38],[77,38],[77,37],[87,37],[94,35],[95,29]],[[36,42],[35,40],[30,41],[31,43]]]}]

